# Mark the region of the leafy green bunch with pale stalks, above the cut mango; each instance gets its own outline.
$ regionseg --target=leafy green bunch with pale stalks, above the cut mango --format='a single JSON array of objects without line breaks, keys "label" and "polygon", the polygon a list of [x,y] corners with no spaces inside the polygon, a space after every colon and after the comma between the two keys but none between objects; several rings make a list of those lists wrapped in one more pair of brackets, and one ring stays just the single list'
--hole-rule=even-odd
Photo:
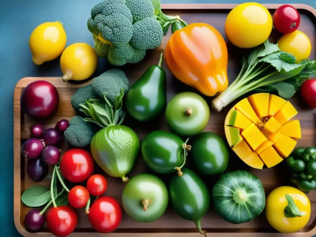
[{"label": "leafy green bunch with pale stalks, above the cut mango", "polygon": [[305,80],[316,75],[315,60],[306,59],[299,64],[295,60],[292,54],[282,52],[277,44],[266,40],[242,59],[239,75],[212,100],[213,108],[220,112],[223,107],[253,90],[292,97]]}]

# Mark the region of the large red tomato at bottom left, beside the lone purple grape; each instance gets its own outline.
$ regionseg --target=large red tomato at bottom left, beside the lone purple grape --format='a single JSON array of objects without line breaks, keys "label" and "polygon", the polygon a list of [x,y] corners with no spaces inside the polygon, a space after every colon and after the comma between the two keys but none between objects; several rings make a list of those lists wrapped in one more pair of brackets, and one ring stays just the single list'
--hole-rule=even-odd
[{"label": "large red tomato at bottom left, beside the lone purple grape", "polygon": [[46,216],[49,232],[58,237],[70,235],[75,230],[77,223],[77,213],[70,206],[52,207]]}]

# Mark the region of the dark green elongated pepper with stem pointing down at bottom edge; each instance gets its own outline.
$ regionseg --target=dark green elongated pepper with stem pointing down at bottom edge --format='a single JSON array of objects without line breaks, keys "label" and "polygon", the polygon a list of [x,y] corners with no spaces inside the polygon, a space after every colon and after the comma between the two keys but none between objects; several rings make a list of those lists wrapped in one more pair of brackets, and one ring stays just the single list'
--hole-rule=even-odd
[{"label": "dark green elongated pepper with stem pointing down at bottom edge", "polygon": [[171,179],[169,194],[173,210],[188,221],[193,221],[201,234],[201,219],[210,207],[210,194],[202,181],[193,171],[182,169],[183,175]]}]

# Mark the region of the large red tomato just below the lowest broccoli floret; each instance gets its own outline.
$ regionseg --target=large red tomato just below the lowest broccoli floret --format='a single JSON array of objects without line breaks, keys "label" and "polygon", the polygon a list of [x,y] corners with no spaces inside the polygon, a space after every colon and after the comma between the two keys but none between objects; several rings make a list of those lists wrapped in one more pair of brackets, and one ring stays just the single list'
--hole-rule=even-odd
[{"label": "large red tomato just below the lowest broccoli floret", "polygon": [[60,171],[68,181],[81,183],[94,172],[94,160],[84,149],[70,149],[61,158]]}]

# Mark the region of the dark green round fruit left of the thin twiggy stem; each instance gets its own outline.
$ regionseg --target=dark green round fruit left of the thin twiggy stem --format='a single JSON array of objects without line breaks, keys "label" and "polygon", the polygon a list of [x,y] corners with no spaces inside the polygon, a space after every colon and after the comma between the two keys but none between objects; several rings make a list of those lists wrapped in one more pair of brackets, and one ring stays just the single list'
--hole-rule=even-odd
[{"label": "dark green round fruit left of the thin twiggy stem", "polygon": [[172,173],[184,164],[184,142],[168,131],[153,131],[142,142],[141,152],[145,163],[157,173]]}]

